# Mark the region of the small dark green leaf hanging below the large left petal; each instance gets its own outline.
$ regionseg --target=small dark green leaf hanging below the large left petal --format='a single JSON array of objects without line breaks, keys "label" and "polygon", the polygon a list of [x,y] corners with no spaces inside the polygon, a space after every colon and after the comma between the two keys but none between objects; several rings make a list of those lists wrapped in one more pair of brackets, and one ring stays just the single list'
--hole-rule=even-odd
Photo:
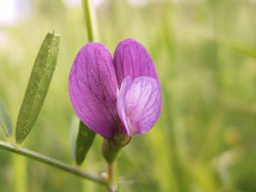
[{"label": "small dark green leaf hanging below the large left petal", "polygon": [[80,122],[79,127],[73,124],[71,134],[71,152],[77,164],[82,164],[85,156],[95,139],[95,132],[92,132],[85,124]]}]

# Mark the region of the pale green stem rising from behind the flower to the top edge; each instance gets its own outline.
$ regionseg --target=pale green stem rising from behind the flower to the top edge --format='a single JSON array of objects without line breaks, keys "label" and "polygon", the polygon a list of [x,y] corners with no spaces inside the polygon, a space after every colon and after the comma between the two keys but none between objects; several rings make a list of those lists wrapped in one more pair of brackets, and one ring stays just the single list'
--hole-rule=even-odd
[{"label": "pale green stem rising from behind the flower to the top edge", "polygon": [[97,16],[91,0],[82,0],[82,9],[89,41],[99,41],[97,33]]}]

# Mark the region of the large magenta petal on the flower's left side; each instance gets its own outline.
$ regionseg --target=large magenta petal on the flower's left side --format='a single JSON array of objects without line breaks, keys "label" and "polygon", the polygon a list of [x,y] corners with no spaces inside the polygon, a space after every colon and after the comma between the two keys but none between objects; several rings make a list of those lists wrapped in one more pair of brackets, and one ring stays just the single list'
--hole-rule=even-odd
[{"label": "large magenta petal on the flower's left side", "polygon": [[69,94],[75,113],[92,131],[114,137],[117,114],[117,79],[110,52],[100,43],[81,48],[70,70]]}]

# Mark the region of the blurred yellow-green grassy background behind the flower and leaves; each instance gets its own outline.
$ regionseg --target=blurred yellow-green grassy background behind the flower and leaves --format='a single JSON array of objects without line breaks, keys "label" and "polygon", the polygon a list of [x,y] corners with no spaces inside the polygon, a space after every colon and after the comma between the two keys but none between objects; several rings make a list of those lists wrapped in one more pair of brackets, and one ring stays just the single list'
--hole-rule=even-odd
[{"label": "blurred yellow-green grassy background behind the flower and leaves", "polygon": [[[0,96],[14,125],[43,38],[61,36],[50,90],[22,146],[71,163],[68,74],[87,43],[79,1],[0,1],[2,15],[4,2],[15,4],[16,20],[0,20]],[[105,0],[97,16],[101,42],[113,53],[124,38],[137,39],[161,80],[163,112],[122,150],[119,191],[256,191],[256,1]],[[101,144],[97,136],[83,169],[106,171]],[[2,149],[0,165],[3,192],[105,191]]]}]

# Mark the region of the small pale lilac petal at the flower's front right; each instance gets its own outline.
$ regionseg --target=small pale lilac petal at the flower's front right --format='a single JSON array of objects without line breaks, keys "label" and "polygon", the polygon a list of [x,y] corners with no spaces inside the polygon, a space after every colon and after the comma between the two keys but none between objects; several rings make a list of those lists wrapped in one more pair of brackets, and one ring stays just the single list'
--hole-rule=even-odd
[{"label": "small pale lilac petal at the flower's front right", "polygon": [[117,99],[117,112],[128,135],[148,132],[161,112],[159,82],[154,78],[124,79]]}]

